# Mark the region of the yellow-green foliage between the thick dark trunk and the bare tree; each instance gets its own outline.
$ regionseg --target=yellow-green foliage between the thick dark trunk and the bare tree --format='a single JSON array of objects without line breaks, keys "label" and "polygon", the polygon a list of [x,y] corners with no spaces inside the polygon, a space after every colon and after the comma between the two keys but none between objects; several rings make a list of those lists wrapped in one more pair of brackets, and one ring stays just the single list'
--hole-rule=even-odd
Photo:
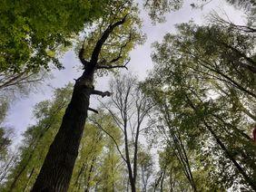
[{"label": "yellow-green foliage between the thick dark trunk and the bare tree", "polygon": [[113,142],[114,139],[121,144],[121,132],[103,110],[90,120],[92,124],[85,126],[69,191],[122,191],[123,165]]}]

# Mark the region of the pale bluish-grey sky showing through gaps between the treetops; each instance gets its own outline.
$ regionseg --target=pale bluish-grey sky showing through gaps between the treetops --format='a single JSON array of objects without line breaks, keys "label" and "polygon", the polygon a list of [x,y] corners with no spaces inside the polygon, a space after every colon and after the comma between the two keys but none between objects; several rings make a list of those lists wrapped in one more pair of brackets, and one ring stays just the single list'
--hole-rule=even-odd
[{"label": "pale bluish-grey sky showing through gaps between the treetops", "polygon": [[[140,2],[140,1],[139,1]],[[245,20],[241,16],[241,12],[227,5],[223,0],[212,0],[211,3],[205,5],[203,9],[192,9],[190,4],[195,0],[186,0],[182,9],[170,14],[166,14],[166,22],[163,24],[153,25],[145,12],[141,13],[143,18],[143,33],[147,35],[147,40],[143,45],[137,46],[131,55],[131,62],[127,65],[129,72],[135,73],[139,80],[143,81],[147,73],[153,69],[151,60],[152,43],[162,41],[162,37],[166,33],[175,33],[175,24],[187,23],[193,20],[196,24],[206,24],[207,14],[214,9],[218,13],[223,10],[229,15],[232,22],[241,24]],[[74,51],[68,51],[64,54],[61,62],[64,63],[65,69],[62,71],[54,71],[54,78],[42,83],[42,86],[36,91],[31,92],[26,98],[21,98],[12,103],[5,120],[5,126],[15,130],[14,143],[18,143],[22,137],[21,134],[29,125],[35,123],[33,117],[33,107],[39,101],[51,99],[54,88],[64,87],[68,82],[74,82],[81,74],[77,66],[80,65]],[[120,69],[125,72],[125,69]],[[109,77],[97,79],[95,89],[107,91]],[[97,106],[97,101],[91,101],[92,107]]]}]

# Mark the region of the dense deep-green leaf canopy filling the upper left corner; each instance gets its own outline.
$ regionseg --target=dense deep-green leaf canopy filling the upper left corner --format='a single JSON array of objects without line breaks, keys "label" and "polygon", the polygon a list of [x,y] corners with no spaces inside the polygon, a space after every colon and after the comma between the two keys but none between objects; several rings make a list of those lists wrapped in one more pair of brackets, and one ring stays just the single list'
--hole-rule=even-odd
[{"label": "dense deep-green leaf canopy filling the upper left corner", "polygon": [[56,54],[104,13],[108,1],[2,1],[0,7],[0,72],[61,69]]}]

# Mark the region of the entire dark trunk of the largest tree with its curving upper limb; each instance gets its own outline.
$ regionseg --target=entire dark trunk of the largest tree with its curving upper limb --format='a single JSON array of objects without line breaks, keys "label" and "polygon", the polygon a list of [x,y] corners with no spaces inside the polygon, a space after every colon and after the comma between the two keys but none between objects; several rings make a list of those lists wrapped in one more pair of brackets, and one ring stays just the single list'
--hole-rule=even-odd
[{"label": "entire dark trunk of the largest tree with its curving upper limb", "polygon": [[110,96],[108,91],[94,91],[94,72],[97,70],[98,57],[103,43],[113,32],[113,29],[125,22],[122,20],[110,24],[94,47],[89,62],[84,60],[84,46],[79,58],[84,64],[84,73],[75,81],[72,99],[65,110],[64,118],[44,159],[44,165],[34,183],[32,192],[65,192],[67,191],[78,155],[80,140],[89,110],[90,95],[101,94]]}]

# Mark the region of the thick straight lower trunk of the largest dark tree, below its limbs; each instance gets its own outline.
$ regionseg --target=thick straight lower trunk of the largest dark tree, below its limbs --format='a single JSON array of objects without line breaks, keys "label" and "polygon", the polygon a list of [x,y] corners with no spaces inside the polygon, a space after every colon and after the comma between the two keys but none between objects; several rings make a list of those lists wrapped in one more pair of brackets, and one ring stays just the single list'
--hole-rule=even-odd
[{"label": "thick straight lower trunk of the largest dark tree, below its limbs", "polygon": [[[92,78],[86,78],[88,82],[90,79]],[[84,83],[75,83],[62,125],[50,146],[32,191],[67,191],[83,135],[91,91],[92,88],[86,87]]]}]

